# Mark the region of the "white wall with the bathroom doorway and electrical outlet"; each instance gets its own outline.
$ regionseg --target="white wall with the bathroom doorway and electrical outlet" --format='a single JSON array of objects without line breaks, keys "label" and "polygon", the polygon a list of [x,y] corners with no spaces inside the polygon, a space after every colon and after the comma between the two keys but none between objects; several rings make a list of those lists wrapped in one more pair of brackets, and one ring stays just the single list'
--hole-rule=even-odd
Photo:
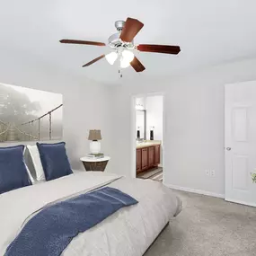
[{"label": "white wall with the bathroom doorway and electrical outlet", "polygon": [[[215,66],[163,81],[124,81],[116,88],[117,137],[113,157],[116,172],[130,175],[131,97],[165,93],[166,137],[163,137],[164,181],[175,186],[224,194],[224,84],[256,80],[256,59]],[[140,85],[143,84],[143,85]],[[215,169],[216,177],[205,169]]]}]

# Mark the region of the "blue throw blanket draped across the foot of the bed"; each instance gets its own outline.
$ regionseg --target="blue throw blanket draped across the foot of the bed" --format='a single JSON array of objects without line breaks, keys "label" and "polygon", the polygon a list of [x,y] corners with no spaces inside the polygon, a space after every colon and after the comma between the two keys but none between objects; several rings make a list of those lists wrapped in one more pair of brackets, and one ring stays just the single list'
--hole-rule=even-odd
[{"label": "blue throw blanket draped across the foot of the bed", "polygon": [[134,204],[136,199],[109,187],[59,202],[33,216],[4,255],[60,255],[77,234],[102,222],[119,208]]}]

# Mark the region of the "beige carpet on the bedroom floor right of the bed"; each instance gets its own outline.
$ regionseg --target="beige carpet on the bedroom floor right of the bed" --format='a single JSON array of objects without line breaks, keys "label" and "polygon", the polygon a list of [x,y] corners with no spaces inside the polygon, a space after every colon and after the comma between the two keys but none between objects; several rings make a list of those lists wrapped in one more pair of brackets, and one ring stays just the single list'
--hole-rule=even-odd
[{"label": "beige carpet on the bedroom floor right of the bed", "polygon": [[256,208],[174,191],[183,210],[146,256],[256,255]]}]

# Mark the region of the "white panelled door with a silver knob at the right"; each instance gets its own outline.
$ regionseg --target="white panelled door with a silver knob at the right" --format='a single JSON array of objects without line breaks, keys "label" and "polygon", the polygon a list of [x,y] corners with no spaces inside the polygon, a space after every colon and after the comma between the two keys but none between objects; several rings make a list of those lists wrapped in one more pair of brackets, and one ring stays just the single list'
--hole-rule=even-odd
[{"label": "white panelled door with a silver knob at the right", "polygon": [[256,207],[256,81],[225,85],[225,200]]}]

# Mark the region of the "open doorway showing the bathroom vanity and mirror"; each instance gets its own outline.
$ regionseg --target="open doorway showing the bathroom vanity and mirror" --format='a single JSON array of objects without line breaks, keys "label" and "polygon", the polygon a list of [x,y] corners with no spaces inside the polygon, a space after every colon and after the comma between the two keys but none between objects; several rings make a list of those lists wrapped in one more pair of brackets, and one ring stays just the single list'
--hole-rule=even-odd
[{"label": "open doorway showing the bathroom vanity and mirror", "polygon": [[164,95],[132,97],[132,176],[164,180]]}]

